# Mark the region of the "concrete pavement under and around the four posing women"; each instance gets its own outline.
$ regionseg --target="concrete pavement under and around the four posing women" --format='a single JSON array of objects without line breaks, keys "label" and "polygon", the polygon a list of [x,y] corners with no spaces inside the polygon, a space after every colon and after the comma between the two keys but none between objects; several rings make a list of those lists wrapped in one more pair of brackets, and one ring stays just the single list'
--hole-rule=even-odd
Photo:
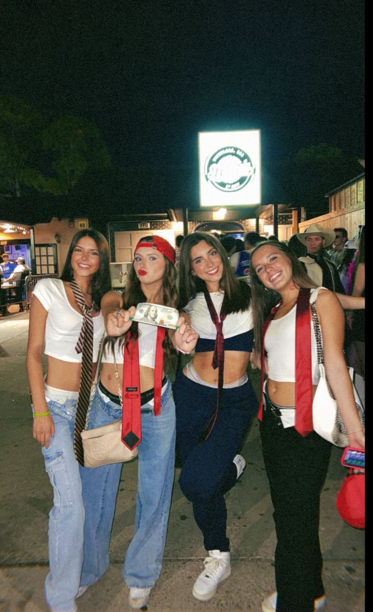
[{"label": "concrete pavement under and around the four posing women", "polygon": [[[43,581],[48,572],[47,523],[53,495],[40,448],[31,435],[24,367],[27,334],[28,313],[0,319],[0,612],[48,612]],[[274,590],[276,536],[256,420],[243,455],[246,469],[227,496],[231,577],[220,584],[209,602],[198,602],[192,596],[192,585],[203,568],[205,551],[191,504],[179,489],[176,469],[164,569],[153,589],[149,612],[260,612],[262,599]],[[327,597],[324,610],[363,612],[364,531],[345,524],[334,506],[345,474],[340,457],[341,450],[333,448],[322,493],[320,537]],[[136,470],[136,460],[122,468],[111,534],[110,569],[78,600],[80,612],[130,610],[121,565],[133,533]]]}]

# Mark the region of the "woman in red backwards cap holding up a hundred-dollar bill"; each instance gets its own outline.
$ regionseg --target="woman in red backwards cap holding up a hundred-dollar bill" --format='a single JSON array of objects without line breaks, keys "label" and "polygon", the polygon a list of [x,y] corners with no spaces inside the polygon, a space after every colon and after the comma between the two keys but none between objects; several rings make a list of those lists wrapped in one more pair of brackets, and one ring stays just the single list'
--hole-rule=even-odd
[{"label": "woman in red backwards cap holding up a hundred-dollar bill", "polygon": [[[175,466],[175,404],[170,381],[165,376],[163,356],[169,362],[171,345],[182,353],[190,353],[198,338],[182,317],[176,331],[135,323],[132,317],[140,302],[176,307],[174,264],[175,249],[165,239],[141,238],[135,247],[123,295],[110,291],[101,303],[107,334],[112,338],[105,347],[88,428],[122,418],[119,395],[123,382],[127,390],[140,387],[141,392],[137,400],[129,399],[126,394],[123,398],[124,414],[131,408],[132,414],[138,409],[138,421],[128,424],[124,438],[130,448],[138,445],[135,535],[123,567],[132,608],[148,603],[159,577],[170,512]],[[109,566],[110,531],[121,468],[121,463],[81,468],[86,521],[80,595]]]}]

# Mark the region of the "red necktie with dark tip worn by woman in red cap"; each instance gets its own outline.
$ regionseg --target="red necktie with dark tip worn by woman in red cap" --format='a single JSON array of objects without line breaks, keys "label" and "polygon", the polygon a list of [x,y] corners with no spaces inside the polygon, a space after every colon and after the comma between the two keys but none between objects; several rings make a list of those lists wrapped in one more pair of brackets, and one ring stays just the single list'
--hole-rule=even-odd
[{"label": "red necktie with dark tip worn by woman in red cap", "polygon": [[[160,414],[162,389],[163,348],[165,327],[157,329],[156,364],[154,368],[154,414]],[[127,338],[129,332],[127,333]],[[132,338],[124,347],[123,358],[122,442],[132,450],[141,442],[141,392],[138,340]]]}]

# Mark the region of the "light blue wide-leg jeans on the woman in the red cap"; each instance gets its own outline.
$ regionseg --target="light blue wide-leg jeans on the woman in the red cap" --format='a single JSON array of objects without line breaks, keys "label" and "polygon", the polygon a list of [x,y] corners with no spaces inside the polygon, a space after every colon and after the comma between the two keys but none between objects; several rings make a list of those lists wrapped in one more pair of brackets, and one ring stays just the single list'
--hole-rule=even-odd
[{"label": "light blue wide-leg jeans on the woman in the red cap", "polygon": [[[89,429],[121,419],[121,416],[120,406],[113,401],[106,403],[96,391]],[[110,532],[121,469],[121,463],[99,468],[80,467],[86,512],[82,585],[93,584],[109,567]],[[162,570],[174,471],[175,403],[168,381],[159,416],[154,416],[151,405],[141,406],[135,535],[127,549],[122,571],[129,587],[153,587]]]}]

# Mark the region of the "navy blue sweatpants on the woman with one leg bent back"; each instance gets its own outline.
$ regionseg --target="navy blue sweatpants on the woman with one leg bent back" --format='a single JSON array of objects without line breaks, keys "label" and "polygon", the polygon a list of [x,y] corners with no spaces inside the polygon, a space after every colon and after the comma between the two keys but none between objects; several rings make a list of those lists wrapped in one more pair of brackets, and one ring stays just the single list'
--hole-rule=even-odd
[{"label": "navy blue sweatpants on the woman with one leg bent back", "polygon": [[236,483],[237,469],[232,461],[257,412],[251,383],[223,390],[213,430],[203,442],[200,435],[214,414],[217,389],[195,383],[180,372],[173,384],[173,398],[182,465],[180,488],[193,503],[206,550],[228,551],[224,493]]}]

